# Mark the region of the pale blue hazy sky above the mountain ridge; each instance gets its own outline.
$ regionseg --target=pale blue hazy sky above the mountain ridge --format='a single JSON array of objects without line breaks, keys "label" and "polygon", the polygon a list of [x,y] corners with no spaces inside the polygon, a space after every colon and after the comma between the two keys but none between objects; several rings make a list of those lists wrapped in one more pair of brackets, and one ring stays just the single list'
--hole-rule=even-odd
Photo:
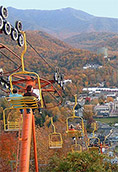
[{"label": "pale blue hazy sky above the mountain ridge", "polygon": [[118,18],[118,0],[0,0],[5,7],[54,10],[71,7],[94,16]]}]

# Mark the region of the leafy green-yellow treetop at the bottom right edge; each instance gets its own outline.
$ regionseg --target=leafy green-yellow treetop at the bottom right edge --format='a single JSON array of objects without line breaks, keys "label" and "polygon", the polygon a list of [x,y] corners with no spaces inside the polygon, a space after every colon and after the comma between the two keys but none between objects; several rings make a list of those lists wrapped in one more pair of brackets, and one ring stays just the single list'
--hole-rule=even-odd
[{"label": "leafy green-yellow treetop at the bottom right edge", "polygon": [[53,156],[47,167],[52,172],[116,172],[117,165],[104,161],[105,156],[93,152],[69,153],[67,157]]}]

